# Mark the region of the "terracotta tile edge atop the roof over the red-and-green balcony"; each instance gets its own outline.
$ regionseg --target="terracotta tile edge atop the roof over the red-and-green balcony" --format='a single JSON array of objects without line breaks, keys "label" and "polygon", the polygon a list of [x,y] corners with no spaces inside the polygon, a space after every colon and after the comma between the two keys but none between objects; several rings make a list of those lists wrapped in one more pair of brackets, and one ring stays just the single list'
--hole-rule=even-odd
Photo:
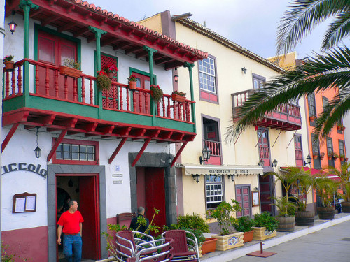
[{"label": "terracotta tile edge atop the roof over the red-and-green balcony", "polygon": [[167,41],[168,43],[172,43],[173,45],[177,45],[179,48],[185,49],[188,52],[192,52],[194,54],[197,54],[198,59],[204,59],[208,57],[207,52],[203,52],[201,50],[197,50],[195,48],[191,48],[189,45],[186,45],[184,43],[180,43],[179,41],[176,41],[169,36],[165,36],[163,34],[158,33],[157,31],[153,31],[147,27],[144,27],[141,24],[137,24],[137,22],[133,22],[130,20],[127,20],[126,18],[119,16],[117,14],[114,14],[112,12],[109,12],[108,10],[102,9],[99,6],[95,6],[93,3],[87,3],[87,1],[81,1],[81,0],[71,0],[73,3],[76,3],[78,6],[81,6],[87,10],[90,10],[95,13],[99,13],[100,15],[104,15],[105,17],[108,17],[113,20],[118,20],[119,22],[130,25],[130,27],[133,27],[134,29],[137,29],[139,31],[143,31],[144,33],[155,36],[156,38],[160,38],[163,41]]}]

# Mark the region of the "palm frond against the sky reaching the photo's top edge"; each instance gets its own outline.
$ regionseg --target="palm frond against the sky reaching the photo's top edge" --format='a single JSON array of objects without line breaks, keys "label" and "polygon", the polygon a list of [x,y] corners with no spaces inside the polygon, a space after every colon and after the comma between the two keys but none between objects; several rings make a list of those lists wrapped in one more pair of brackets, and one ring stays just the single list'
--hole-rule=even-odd
[{"label": "palm frond against the sky reaching the photo's top edge", "polygon": [[[277,54],[293,50],[302,38],[329,17],[349,10],[348,0],[295,0],[281,17],[277,33]],[[349,30],[349,29],[348,29]]]}]

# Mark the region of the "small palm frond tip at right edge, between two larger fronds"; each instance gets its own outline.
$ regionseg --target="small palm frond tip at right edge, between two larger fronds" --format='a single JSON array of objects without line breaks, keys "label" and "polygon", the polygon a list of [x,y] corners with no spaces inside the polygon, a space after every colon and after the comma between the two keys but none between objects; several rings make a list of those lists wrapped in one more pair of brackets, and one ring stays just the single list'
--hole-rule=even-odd
[{"label": "small palm frond tip at right edge, between two larger fronds", "polygon": [[339,13],[330,24],[330,28],[325,32],[322,50],[327,50],[335,46],[350,34],[350,10]]}]

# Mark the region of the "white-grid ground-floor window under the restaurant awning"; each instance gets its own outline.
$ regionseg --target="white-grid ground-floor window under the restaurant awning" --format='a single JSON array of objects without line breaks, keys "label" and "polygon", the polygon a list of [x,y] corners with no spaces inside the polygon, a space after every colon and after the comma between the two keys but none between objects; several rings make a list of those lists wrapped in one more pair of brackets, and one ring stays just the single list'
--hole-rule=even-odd
[{"label": "white-grid ground-floor window under the restaurant awning", "polygon": [[206,175],[205,187],[207,209],[216,208],[221,202],[223,202],[223,179],[221,175]]}]

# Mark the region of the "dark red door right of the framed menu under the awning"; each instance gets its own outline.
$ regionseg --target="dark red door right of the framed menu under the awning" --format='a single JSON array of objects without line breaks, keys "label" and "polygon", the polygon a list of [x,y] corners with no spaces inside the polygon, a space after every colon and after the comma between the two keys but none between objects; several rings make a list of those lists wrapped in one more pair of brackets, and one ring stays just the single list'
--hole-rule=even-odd
[{"label": "dark red door right of the framed menu under the awning", "polygon": [[259,175],[259,184],[261,212],[267,211],[274,214],[273,202],[271,199],[271,197],[274,196],[272,191],[274,187],[272,175]]}]

